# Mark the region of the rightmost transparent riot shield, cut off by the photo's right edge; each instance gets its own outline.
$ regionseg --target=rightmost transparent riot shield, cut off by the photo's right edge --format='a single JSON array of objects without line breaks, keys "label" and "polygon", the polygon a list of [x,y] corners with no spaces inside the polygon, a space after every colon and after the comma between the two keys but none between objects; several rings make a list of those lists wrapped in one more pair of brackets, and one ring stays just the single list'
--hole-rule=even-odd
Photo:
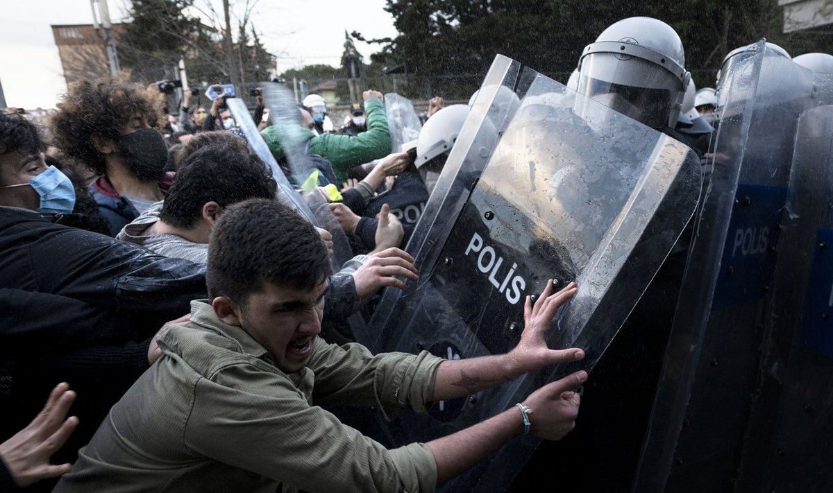
[{"label": "rightmost transparent riot shield, cut off by the photo's right edge", "polygon": [[739,491],[833,488],[833,106],[804,113]]}]

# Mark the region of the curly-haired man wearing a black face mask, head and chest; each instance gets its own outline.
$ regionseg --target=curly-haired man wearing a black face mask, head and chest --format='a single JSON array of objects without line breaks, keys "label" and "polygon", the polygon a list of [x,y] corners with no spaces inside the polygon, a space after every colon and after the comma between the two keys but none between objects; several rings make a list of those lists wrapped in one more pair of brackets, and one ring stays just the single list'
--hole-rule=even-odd
[{"label": "curly-haired man wearing a black face mask, head and chest", "polygon": [[72,84],[52,117],[54,143],[100,175],[89,191],[115,236],[162,199],[167,144],[153,126],[162,117],[159,93],[119,77]]}]

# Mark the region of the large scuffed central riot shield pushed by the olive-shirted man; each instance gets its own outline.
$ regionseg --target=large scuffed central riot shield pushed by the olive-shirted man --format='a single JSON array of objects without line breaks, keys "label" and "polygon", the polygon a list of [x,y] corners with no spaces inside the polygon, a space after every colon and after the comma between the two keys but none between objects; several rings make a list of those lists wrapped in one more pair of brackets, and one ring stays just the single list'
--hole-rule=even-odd
[{"label": "large scuffed central riot shield pushed by the olive-shirted man", "polygon": [[[451,185],[431,219],[436,231],[414,246],[420,281],[399,296],[377,350],[504,353],[523,330],[524,296],[548,279],[576,280],[548,342],[581,346],[579,366],[589,370],[691,218],[701,171],[688,147],[529,68],[512,87],[519,104],[497,130],[486,117],[495,99],[481,88],[461,132],[467,138],[457,142],[466,147],[452,149],[441,177]],[[446,176],[449,169],[455,174]],[[387,427],[388,440],[458,431],[574,370],[550,368],[437,403],[428,416],[407,414]],[[513,441],[441,490],[504,491],[536,446]]]}]

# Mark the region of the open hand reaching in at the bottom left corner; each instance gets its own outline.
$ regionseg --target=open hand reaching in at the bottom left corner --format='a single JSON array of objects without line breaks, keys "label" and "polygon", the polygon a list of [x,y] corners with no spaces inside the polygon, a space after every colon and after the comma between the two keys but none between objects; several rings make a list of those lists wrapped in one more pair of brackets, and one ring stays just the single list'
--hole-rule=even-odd
[{"label": "open hand reaching in at the bottom left corner", "polygon": [[71,464],[53,466],[49,457],[67,441],[78,426],[78,418],[67,418],[75,392],[59,383],[49,394],[46,406],[29,426],[0,444],[0,456],[17,486],[25,487],[42,479],[61,476]]}]

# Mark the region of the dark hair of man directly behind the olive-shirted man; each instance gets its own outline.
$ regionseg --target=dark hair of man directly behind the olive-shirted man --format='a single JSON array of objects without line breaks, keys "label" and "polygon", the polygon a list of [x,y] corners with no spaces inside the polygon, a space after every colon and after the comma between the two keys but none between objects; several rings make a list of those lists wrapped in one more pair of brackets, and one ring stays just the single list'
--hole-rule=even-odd
[{"label": "dark hair of man directly behind the olive-shirted man", "polygon": [[274,199],[272,171],[257,155],[212,144],[186,157],[167,191],[159,218],[173,227],[190,228],[206,202],[226,208],[249,198]]}]

